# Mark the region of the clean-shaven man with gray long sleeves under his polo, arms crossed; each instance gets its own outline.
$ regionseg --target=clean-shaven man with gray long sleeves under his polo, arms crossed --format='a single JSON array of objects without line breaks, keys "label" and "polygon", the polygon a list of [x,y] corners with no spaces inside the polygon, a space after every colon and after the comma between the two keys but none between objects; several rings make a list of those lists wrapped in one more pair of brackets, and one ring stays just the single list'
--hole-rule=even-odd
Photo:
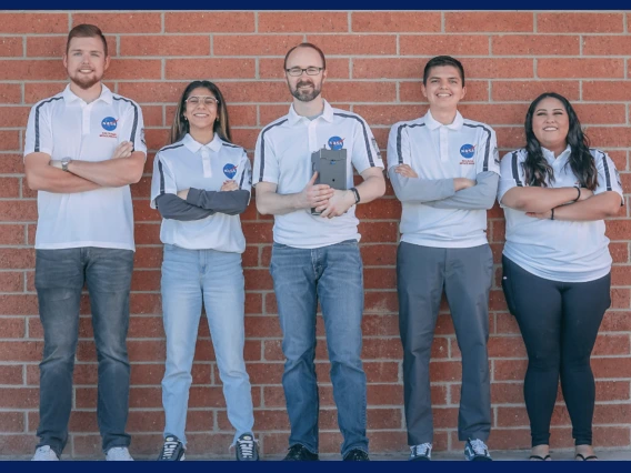
[{"label": "clean-shaven man with gray long sleeves under his polo, arms crossed", "polygon": [[464,70],[448,56],[423,72],[428,113],[392,127],[388,170],[402,202],[397,254],[399,329],[410,460],[430,460],[433,425],[430,352],[444,290],[462,353],[459,440],[468,460],[491,460],[487,341],[493,258],[487,242],[487,209],[499,181],[494,131],[458,112]]}]

